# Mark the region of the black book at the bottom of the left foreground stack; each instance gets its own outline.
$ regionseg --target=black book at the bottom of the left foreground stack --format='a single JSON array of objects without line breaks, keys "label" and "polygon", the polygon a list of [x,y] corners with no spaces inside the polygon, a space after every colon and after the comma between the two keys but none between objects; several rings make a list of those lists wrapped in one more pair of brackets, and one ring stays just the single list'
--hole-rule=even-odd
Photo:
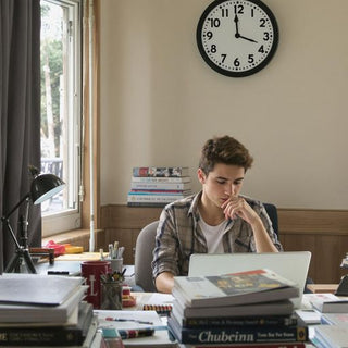
[{"label": "black book at the bottom of the left foreground stack", "polygon": [[78,322],[70,326],[3,326],[0,346],[80,346],[92,321],[94,309],[85,301],[78,304]]}]

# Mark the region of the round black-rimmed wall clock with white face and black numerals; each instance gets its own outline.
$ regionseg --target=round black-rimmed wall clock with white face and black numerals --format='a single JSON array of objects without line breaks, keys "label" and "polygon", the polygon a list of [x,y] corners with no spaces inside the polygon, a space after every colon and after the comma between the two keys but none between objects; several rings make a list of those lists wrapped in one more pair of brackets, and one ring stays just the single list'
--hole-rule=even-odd
[{"label": "round black-rimmed wall clock with white face and black numerals", "polygon": [[259,0],[216,0],[206,9],[197,26],[200,54],[226,76],[257,73],[270,62],[277,44],[276,20]]}]

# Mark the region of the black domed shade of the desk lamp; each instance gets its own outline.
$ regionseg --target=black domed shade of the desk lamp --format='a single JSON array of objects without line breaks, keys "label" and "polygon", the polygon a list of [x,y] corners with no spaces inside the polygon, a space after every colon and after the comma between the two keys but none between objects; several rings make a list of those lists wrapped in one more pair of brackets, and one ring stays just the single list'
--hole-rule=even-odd
[{"label": "black domed shade of the desk lamp", "polygon": [[39,174],[32,182],[30,197],[34,204],[40,204],[65,187],[65,183],[53,174]]}]

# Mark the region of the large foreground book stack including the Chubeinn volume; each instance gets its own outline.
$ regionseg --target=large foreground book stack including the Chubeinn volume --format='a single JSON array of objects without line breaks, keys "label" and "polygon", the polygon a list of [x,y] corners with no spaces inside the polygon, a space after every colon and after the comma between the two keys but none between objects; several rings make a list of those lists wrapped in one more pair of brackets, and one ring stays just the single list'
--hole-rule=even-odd
[{"label": "large foreground book stack including the Chubeinn volume", "polygon": [[270,270],[174,277],[170,336],[186,348],[306,347],[297,285]]}]

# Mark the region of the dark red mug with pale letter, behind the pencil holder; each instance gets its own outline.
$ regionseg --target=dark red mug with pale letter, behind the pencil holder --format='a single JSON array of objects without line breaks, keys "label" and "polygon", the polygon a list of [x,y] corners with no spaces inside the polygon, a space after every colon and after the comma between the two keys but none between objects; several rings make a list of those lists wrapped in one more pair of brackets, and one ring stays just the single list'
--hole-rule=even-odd
[{"label": "dark red mug with pale letter, behind the pencil holder", "polygon": [[86,301],[94,306],[94,309],[100,309],[101,300],[101,281],[100,275],[110,274],[111,268],[109,261],[84,261],[80,264],[80,274],[86,278],[89,286]]}]

